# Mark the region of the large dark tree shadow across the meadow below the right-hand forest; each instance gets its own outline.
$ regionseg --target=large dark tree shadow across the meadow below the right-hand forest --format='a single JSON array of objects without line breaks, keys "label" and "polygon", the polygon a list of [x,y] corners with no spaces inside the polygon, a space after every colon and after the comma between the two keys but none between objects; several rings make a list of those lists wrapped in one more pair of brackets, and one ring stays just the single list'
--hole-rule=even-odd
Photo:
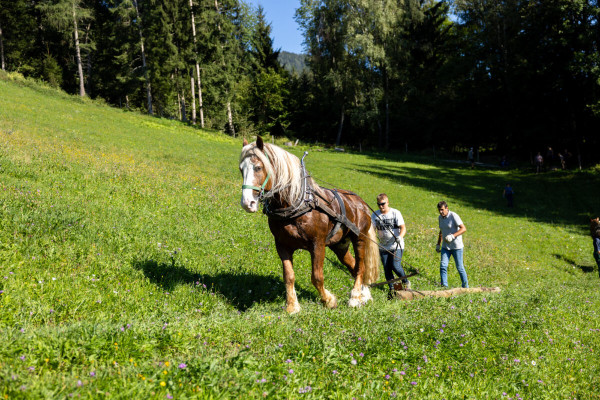
[{"label": "large dark tree shadow across the meadow below the right-hand forest", "polygon": [[[600,197],[600,176],[593,172],[554,171],[535,175],[518,170],[500,173],[489,169],[471,170],[447,163],[432,167],[411,167],[402,163],[397,166],[361,165],[359,171],[440,193],[439,199],[432,200],[432,214],[436,214],[438,201],[450,199],[450,209],[458,202],[537,222],[581,225],[583,232],[587,229],[589,216],[600,212],[596,201]],[[506,183],[511,183],[515,191],[513,208],[507,207],[502,198]]]}]

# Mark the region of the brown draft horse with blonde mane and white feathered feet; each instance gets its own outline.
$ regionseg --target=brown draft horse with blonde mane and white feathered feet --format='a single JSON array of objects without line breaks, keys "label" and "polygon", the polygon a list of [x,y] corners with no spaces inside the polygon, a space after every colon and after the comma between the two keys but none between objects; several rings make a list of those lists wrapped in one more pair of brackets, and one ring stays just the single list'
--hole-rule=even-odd
[{"label": "brown draft horse with blonde mane and white feathered feet", "polygon": [[[333,191],[321,188],[312,178],[303,176],[298,157],[275,145],[264,143],[260,136],[256,143],[252,144],[248,144],[244,139],[240,171],[244,179],[241,199],[244,210],[258,211],[260,201],[264,201],[269,210],[292,210],[291,217],[284,219],[265,212],[269,216],[269,228],[283,264],[288,313],[300,311],[294,289],[293,268],[293,254],[298,249],[307,250],[311,255],[311,281],[325,307],[337,306],[336,297],[324,286],[323,260],[326,246],[354,277],[354,287],[350,292],[348,305],[357,307],[372,300],[367,285],[375,282],[379,275],[379,248],[375,230],[371,226],[370,209],[360,197],[345,190],[338,191],[343,199],[346,217],[360,230],[360,234],[356,234],[356,230],[353,231],[345,225],[332,231],[336,221],[314,207],[307,209],[306,203],[312,202],[314,206],[315,201],[322,202],[337,214],[342,212],[341,207]],[[304,211],[301,207],[305,207]],[[300,209],[301,215],[293,215],[296,209]],[[335,234],[328,238],[330,232]],[[350,243],[356,258],[349,251]]]}]

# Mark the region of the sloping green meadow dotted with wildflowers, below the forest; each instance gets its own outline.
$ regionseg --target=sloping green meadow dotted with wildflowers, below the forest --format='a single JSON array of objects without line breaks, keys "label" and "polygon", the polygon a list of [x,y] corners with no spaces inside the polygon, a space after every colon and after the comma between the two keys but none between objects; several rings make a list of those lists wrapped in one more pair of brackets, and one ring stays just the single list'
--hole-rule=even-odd
[{"label": "sloping green meadow dotted with wildflowers, below the forest", "polygon": [[379,288],[352,309],[328,251],[327,310],[298,252],[290,316],[267,219],[239,204],[241,146],[2,75],[1,398],[600,398],[597,169],[290,149],[324,186],[371,206],[388,194],[414,289],[439,279],[440,200],[467,227],[471,286],[502,289],[401,302]]}]

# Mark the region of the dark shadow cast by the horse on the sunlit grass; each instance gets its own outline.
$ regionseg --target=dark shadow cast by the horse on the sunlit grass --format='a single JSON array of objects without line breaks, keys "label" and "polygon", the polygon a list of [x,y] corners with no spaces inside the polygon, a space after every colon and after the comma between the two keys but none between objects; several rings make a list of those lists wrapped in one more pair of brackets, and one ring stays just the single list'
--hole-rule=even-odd
[{"label": "dark shadow cast by the horse on the sunlit grass", "polygon": [[[167,292],[179,285],[206,287],[207,290],[221,294],[239,311],[246,311],[256,303],[285,302],[285,285],[282,279],[271,275],[249,272],[199,274],[175,262],[155,260],[135,260],[132,266]],[[316,292],[303,289],[297,283],[295,289],[299,299],[314,301],[318,297]]]}]

